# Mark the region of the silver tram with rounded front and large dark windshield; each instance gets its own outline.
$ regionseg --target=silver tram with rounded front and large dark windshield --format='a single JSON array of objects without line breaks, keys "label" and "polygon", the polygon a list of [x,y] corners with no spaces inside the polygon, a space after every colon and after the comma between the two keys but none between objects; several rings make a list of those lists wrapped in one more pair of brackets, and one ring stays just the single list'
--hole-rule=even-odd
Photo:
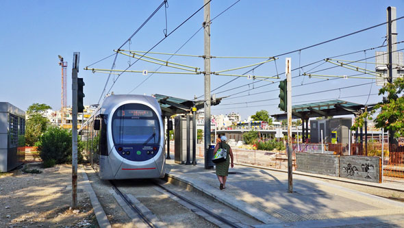
[{"label": "silver tram with rounded front and large dark windshield", "polygon": [[154,97],[113,94],[81,126],[79,136],[100,179],[162,178],[163,126]]}]

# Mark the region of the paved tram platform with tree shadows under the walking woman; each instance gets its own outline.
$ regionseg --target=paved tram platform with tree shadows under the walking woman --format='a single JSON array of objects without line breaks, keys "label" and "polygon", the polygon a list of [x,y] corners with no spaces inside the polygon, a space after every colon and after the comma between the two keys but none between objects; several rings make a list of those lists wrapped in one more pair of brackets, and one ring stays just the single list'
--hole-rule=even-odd
[{"label": "paved tram platform with tree shadows under the walking woman", "polygon": [[[404,227],[404,203],[336,186],[312,177],[294,175],[288,193],[288,174],[251,166],[229,169],[225,190],[219,190],[214,170],[166,160],[168,177],[188,183],[235,210],[266,225],[259,227]],[[401,184],[380,183],[388,188]]]}]

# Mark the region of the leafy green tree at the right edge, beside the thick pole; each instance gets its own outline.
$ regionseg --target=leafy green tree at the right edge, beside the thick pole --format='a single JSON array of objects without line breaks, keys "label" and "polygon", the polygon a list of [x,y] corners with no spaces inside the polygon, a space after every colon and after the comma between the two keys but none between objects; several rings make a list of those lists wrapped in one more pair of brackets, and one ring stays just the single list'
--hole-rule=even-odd
[{"label": "leafy green tree at the right edge, beside the thick pole", "polygon": [[[390,143],[396,143],[395,138],[404,136],[404,79],[397,78],[393,83],[388,83],[379,90],[379,95],[387,94],[386,99],[377,103],[373,110],[364,112],[357,116],[355,124],[351,129],[355,130],[357,127],[363,127],[365,118],[373,119],[372,115],[379,111],[375,118],[375,127],[388,130],[390,132]],[[394,134],[393,134],[394,133]]]}]

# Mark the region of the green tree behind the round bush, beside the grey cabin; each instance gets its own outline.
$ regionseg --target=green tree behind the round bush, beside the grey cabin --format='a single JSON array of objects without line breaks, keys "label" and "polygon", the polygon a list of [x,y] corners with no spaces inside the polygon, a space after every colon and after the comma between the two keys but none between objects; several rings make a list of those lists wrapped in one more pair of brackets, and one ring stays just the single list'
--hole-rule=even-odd
[{"label": "green tree behind the round bush, beside the grey cabin", "polygon": [[45,103],[33,103],[29,105],[25,130],[25,144],[28,147],[34,146],[35,142],[38,142],[40,136],[46,131],[49,120],[42,116],[42,114],[51,108],[51,106]]}]

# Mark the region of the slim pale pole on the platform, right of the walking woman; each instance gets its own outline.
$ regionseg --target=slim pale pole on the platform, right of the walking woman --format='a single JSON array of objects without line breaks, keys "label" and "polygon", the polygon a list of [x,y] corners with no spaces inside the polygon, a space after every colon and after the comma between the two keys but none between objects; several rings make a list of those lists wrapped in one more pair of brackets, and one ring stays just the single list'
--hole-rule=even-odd
[{"label": "slim pale pole on the platform, right of the walking woman", "polygon": [[286,91],[288,94],[287,99],[287,111],[288,111],[288,191],[293,192],[293,183],[292,183],[292,60],[291,58],[286,58]]}]

